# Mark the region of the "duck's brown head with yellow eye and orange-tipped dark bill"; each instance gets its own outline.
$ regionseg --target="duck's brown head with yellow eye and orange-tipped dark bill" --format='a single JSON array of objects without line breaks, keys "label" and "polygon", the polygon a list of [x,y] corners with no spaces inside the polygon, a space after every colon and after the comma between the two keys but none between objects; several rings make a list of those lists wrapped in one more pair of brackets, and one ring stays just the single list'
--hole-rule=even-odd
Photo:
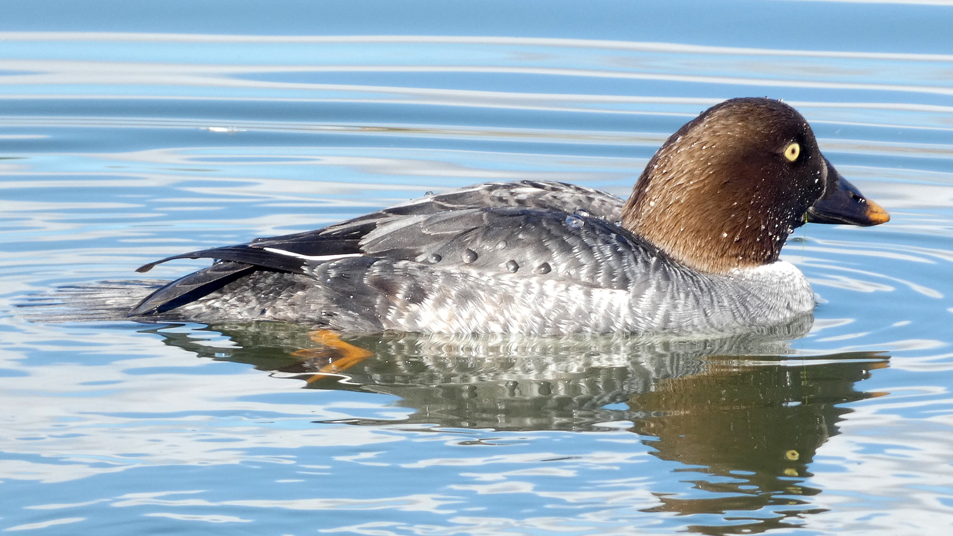
[{"label": "duck's brown head with yellow eye and orange-tipped dark bill", "polygon": [[889,218],[821,155],[801,113],[756,97],[721,102],[672,134],[622,209],[624,227],[710,273],[774,262],[805,221]]}]

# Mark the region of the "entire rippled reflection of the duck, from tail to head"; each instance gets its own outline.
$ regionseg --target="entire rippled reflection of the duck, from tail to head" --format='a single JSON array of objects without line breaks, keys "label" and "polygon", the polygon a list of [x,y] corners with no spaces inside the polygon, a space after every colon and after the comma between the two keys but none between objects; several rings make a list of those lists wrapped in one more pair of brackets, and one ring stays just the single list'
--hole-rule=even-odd
[{"label": "entire rippled reflection of the duck, from tail to head", "polygon": [[200,356],[252,363],[309,388],[395,395],[416,410],[401,423],[594,430],[631,422],[657,457],[684,464],[677,469],[687,473],[684,482],[711,492],[659,494],[653,511],[718,514],[721,524],[692,530],[750,534],[799,526],[797,518],[812,513],[798,496],[819,493],[801,483],[818,447],[851,411],[837,404],[878,395],[854,384],[886,366],[882,353],[783,357],[791,352],[787,341],[810,324],[804,318],[716,340],[410,334],[339,340],[287,324],[208,328],[231,338],[233,348],[157,331]]}]

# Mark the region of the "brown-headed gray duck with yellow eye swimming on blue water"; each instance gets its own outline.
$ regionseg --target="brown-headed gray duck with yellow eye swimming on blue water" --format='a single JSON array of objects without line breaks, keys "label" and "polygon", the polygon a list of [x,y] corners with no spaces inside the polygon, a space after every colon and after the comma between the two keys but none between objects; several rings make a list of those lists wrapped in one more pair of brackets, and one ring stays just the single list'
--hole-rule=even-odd
[{"label": "brown-headed gray duck with yellow eye swimming on blue water", "polygon": [[821,154],[801,113],[733,98],[672,134],[628,199],[536,180],[428,193],[145,264],[137,271],[213,259],[128,318],[363,334],[736,333],[811,315],[807,278],[779,258],[794,229],[889,218]]}]

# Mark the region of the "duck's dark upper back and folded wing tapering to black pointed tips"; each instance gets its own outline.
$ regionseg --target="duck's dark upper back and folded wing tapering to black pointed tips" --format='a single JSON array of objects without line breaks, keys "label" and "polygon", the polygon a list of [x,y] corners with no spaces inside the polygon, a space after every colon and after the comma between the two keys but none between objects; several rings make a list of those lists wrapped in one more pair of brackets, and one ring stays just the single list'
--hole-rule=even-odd
[{"label": "duck's dark upper back and folded wing tapering to black pointed tips", "polygon": [[[148,272],[156,264],[175,258],[216,260],[211,268],[176,279],[159,289],[139,303],[131,316],[169,310],[188,302],[190,297],[204,296],[253,269],[309,274],[322,262],[378,256],[385,251],[385,257],[417,259],[419,254],[416,252],[427,249],[428,242],[421,236],[411,238],[413,229],[417,229],[418,235],[427,234],[434,233],[442,225],[442,230],[431,238],[444,239],[469,225],[465,223],[470,221],[467,217],[472,217],[468,211],[521,207],[564,215],[557,219],[564,218],[567,212],[582,211],[579,217],[588,214],[615,221],[620,217],[621,206],[621,199],[598,190],[543,181],[485,183],[428,195],[316,231],[256,238],[248,244],[198,250],[145,264],[136,271]],[[436,222],[441,223],[437,225]],[[427,231],[420,231],[425,228]],[[373,244],[370,249],[368,244]]]}]

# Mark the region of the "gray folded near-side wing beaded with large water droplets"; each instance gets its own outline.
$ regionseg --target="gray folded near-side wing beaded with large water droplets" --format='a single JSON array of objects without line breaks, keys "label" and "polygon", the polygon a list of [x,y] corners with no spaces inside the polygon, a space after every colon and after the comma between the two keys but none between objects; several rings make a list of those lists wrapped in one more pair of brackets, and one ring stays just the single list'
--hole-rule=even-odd
[{"label": "gray folded near-side wing beaded with large water droplets", "polygon": [[[559,278],[630,290],[657,248],[615,222],[554,210],[467,209],[403,218],[361,240],[365,256],[414,260],[441,269]],[[305,265],[313,271],[318,265]]]}]

